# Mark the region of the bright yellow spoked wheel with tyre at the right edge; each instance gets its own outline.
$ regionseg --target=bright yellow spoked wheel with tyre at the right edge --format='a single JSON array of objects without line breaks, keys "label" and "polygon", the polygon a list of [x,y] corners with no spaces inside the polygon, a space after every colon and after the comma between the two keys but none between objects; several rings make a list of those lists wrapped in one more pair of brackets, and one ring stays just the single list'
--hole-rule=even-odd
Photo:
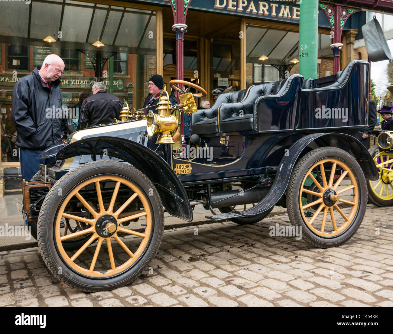
[{"label": "bright yellow spoked wheel with tyre at the right edge", "polygon": [[379,179],[377,181],[368,181],[368,199],[375,206],[392,206],[393,205],[393,180],[389,173],[393,170],[393,153],[384,152],[378,145],[369,149],[369,153],[378,169]]}]

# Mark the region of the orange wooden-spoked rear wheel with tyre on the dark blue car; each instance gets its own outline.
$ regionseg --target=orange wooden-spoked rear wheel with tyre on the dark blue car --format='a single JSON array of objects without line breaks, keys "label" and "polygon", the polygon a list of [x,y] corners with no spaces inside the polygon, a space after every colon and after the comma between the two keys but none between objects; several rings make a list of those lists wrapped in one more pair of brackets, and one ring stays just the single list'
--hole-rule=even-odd
[{"label": "orange wooden-spoked rear wheel with tyre on the dark blue car", "polygon": [[360,166],[335,147],[321,147],[303,156],[286,194],[291,224],[301,226],[303,239],[321,248],[347,241],[360,226],[367,205]]}]

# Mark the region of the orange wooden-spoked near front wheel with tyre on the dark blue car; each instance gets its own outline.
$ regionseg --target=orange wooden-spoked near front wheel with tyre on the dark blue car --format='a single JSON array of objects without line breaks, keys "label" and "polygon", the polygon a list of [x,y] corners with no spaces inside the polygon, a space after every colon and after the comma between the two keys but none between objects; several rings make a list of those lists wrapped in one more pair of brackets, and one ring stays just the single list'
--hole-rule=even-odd
[{"label": "orange wooden-spoked near front wheel with tyre on the dark blue car", "polygon": [[[39,248],[48,268],[64,283],[90,292],[138,277],[158,251],[162,233],[163,208],[154,185],[118,161],[86,163],[64,175],[38,219]],[[74,250],[64,247],[82,237]]]}]

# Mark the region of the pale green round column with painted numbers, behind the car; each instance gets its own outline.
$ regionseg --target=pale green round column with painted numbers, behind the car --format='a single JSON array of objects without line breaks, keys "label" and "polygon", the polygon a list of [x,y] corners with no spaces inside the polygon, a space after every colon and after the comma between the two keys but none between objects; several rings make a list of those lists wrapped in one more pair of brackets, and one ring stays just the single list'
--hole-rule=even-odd
[{"label": "pale green round column with painted numbers, behind the car", "polygon": [[300,3],[299,74],[317,79],[318,73],[318,0]]}]

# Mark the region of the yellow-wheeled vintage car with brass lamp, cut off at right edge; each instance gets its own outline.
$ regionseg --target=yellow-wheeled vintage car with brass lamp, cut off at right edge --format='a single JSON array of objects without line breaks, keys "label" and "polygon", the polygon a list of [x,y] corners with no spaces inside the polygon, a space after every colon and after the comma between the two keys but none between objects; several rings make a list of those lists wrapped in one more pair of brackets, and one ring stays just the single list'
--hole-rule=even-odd
[{"label": "yellow-wheeled vintage car with brass lamp, cut off at right edge", "polygon": [[378,136],[378,145],[370,147],[369,153],[378,169],[377,181],[367,182],[368,200],[375,206],[393,205],[393,131],[372,131]]}]

